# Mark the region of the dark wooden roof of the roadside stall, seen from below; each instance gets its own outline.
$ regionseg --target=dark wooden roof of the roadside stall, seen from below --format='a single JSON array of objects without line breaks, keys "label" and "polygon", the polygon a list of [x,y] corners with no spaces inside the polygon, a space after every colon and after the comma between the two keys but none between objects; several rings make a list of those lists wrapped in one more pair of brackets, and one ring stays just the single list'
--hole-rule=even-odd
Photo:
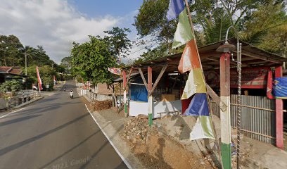
[{"label": "dark wooden roof of the roadside stall, seen from below", "polygon": [[[216,49],[222,44],[224,44],[224,42],[225,41],[215,42],[198,48],[200,61],[203,65],[203,70],[219,69],[219,58],[222,53],[216,51]],[[284,61],[287,61],[287,58],[283,58],[278,54],[272,54],[268,51],[264,51],[263,49],[259,49],[256,46],[248,44],[247,42],[240,41],[240,43],[242,44],[241,63],[243,68],[254,66],[272,67],[276,65],[282,65]],[[236,45],[236,39],[229,39],[229,44]],[[143,71],[146,71],[148,66],[152,66],[155,72],[159,72],[162,68],[162,66],[160,65],[165,65],[166,63],[168,63],[168,67],[165,72],[177,72],[177,67],[179,65],[181,54],[182,53],[172,54],[170,56],[165,56],[152,61],[146,61],[144,63],[139,63],[126,67],[126,69],[134,67],[141,68]],[[236,50],[233,51],[232,54],[233,56],[231,57],[230,64],[231,67],[235,67],[237,63],[235,61],[232,61],[232,58],[236,60]]]}]

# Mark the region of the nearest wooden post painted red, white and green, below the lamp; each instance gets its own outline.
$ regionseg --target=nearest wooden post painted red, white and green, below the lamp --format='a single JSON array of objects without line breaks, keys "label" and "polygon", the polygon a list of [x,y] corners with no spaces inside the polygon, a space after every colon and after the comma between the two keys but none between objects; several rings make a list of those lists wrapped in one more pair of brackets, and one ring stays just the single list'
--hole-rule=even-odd
[{"label": "nearest wooden post painted red, white and green, below the lamp", "polygon": [[[230,120],[230,54],[220,56],[220,100],[227,108],[220,109],[221,151],[224,169],[231,168],[231,120]],[[223,105],[222,105],[223,106]]]}]

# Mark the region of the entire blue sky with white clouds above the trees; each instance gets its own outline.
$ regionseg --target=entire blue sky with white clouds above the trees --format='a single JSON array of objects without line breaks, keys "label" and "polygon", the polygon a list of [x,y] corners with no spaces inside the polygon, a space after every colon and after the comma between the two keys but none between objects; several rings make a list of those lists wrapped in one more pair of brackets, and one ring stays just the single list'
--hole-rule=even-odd
[{"label": "entire blue sky with white clouds above the trees", "polygon": [[[60,63],[70,56],[72,42],[86,42],[88,35],[103,36],[112,27],[132,26],[143,0],[0,0],[0,34],[15,35],[27,46],[43,46]],[[23,22],[25,20],[25,22]],[[132,52],[142,48],[133,46]],[[131,58],[141,54],[136,52]]]}]

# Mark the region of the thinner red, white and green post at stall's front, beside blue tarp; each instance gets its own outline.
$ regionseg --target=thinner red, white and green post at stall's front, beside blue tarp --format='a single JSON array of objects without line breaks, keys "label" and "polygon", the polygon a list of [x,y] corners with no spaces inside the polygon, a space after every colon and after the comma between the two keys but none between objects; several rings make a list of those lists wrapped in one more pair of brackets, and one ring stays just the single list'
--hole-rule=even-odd
[{"label": "thinner red, white and green post at stall's front, beside blue tarp", "polygon": [[153,69],[148,66],[148,125],[153,124],[153,96],[151,90],[153,89]]}]

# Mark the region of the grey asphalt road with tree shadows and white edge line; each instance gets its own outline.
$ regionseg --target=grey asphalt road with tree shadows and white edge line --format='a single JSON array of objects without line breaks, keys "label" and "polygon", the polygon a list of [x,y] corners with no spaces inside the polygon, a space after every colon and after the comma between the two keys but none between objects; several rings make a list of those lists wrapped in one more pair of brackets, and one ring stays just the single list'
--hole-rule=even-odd
[{"label": "grey asphalt road with tree shadows and white edge line", "polygon": [[[65,86],[75,91],[73,81]],[[0,168],[127,168],[76,93],[59,91],[0,118]]]}]

